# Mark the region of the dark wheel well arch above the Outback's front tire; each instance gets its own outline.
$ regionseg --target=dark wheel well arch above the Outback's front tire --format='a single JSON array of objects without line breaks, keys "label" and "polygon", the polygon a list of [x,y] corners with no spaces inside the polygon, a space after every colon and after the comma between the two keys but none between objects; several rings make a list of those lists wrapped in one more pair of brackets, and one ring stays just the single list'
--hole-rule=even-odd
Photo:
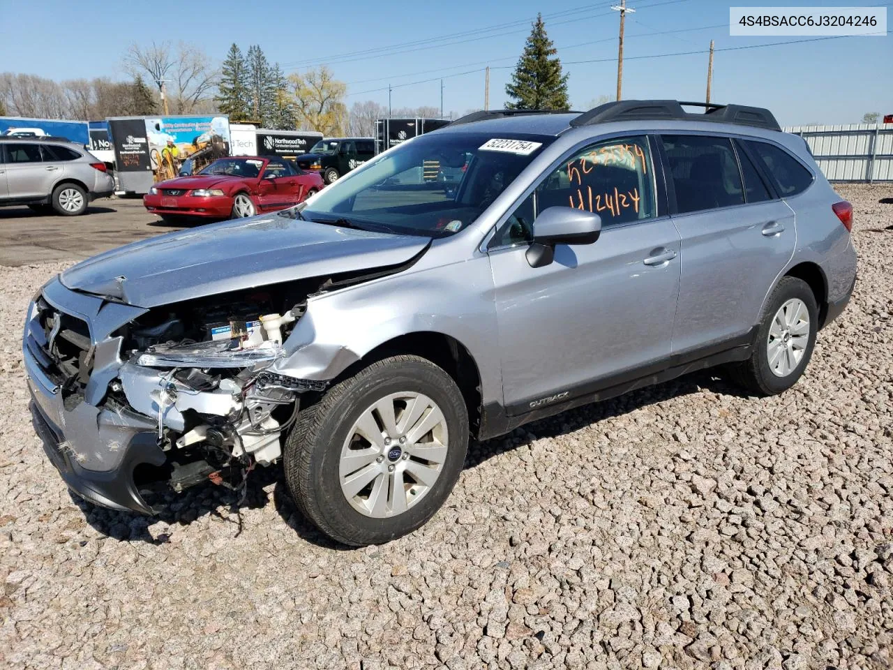
[{"label": "dark wheel well arch above the Outback's front tire", "polygon": [[480,372],[478,364],[462,342],[439,332],[411,332],[380,344],[355,365],[364,367],[398,354],[426,358],[455,380],[468,409],[469,428],[472,434],[477,435],[480,428]]}]

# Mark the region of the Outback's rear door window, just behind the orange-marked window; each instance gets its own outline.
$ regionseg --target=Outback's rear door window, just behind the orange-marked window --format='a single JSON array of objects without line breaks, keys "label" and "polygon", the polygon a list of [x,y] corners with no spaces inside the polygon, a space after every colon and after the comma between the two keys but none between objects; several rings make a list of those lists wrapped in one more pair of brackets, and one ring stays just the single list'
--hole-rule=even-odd
[{"label": "Outback's rear door window, just behind the orange-marked window", "polygon": [[729,138],[664,135],[680,214],[744,204],[738,161]]}]

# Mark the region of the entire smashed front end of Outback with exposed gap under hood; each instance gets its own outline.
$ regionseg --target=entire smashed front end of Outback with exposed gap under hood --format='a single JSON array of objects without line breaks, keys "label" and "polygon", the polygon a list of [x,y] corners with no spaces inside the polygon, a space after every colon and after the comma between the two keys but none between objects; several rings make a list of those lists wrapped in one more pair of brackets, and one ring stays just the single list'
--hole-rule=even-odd
[{"label": "entire smashed front end of Outback with exposed gap under hood", "polygon": [[[357,359],[346,348],[314,347],[308,297],[405,267],[152,309],[55,280],[29,307],[23,346],[47,454],[72,490],[104,507],[157,511],[139,493],[156,485],[179,491],[211,481],[244,495],[255,465],[280,459],[301,398],[328,386],[326,371]],[[100,327],[104,306],[132,316]]]}]

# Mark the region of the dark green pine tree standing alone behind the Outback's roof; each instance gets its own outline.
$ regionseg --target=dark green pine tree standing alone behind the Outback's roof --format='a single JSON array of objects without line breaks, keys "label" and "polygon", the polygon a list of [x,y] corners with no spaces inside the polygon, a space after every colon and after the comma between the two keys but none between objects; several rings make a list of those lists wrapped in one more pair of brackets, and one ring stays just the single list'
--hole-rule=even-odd
[{"label": "dark green pine tree standing alone behind the Outback's roof", "polygon": [[530,30],[521,58],[512,74],[512,81],[505,85],[505,93],[513,98],[506,104],[508,109],[556,109],[568,110],[568,74],[562,74],[561,60],[555,54],[555,46],[547,37],[542,14]]}]

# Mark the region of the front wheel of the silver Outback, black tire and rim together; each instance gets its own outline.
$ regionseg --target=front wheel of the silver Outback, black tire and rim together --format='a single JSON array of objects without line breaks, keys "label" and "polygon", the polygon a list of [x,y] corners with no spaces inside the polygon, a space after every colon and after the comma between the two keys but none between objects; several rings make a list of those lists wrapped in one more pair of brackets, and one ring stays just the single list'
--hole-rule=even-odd
[{"label": "front wheel of the silver Outback, black tire and rim together", "polygon": [[453,490],[468,448],[455,381],[419,356],[393,356],[302,409],[283,456],[297,506],[346,545],[413,532]]}]

